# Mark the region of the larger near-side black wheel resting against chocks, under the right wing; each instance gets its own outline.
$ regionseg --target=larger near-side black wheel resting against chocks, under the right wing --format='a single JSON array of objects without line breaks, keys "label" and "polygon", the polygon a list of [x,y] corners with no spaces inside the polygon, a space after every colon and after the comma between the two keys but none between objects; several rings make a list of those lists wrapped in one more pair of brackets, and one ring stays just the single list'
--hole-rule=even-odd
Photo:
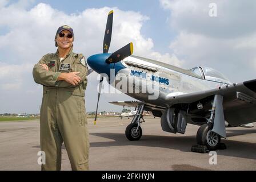
[{"label": "larger near-side black wheel resting against chocks, under the right wing", "polygon": [[219,143],[221,143],[221,137],[214,133],[213,123],[206,123],[199,127],[197,131],[197,144],[206,146],[209,150],[217,150]]}]

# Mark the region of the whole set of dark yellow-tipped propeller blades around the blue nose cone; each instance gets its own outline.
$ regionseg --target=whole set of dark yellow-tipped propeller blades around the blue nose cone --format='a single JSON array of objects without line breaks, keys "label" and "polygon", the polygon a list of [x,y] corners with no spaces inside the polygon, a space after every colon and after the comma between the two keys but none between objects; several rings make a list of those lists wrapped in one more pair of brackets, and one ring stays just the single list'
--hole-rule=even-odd
[{"label": "whole set of dark yellow-tipped propeller blades around the blue nose cone", "polygon": [[[109,52],[111,36],[112,36],[112,28],[113,28],[113,15],[114,15],[114,11],[112,10],[109,12],[109,15],[107,16],[107,25],[106,25],[105,36],[103,40],[103,53]],[[106,59],[106,63],[107,64],[118,63],[119,61],[122,61],[123,59],[125,59],[126,57],[132,54],[133,54],[133,43],[129,43],[126,46],[119,49],[118,51],[115,51],[114,53],[112,53]],[[97,109],[95,113],[94,125],[96,125],[96,122],[97,122],[99,97],[101,97],[102,82],[103,82],[103,77],[99,81],[99,93],[98,93],[98,101],[97,101]]]}]

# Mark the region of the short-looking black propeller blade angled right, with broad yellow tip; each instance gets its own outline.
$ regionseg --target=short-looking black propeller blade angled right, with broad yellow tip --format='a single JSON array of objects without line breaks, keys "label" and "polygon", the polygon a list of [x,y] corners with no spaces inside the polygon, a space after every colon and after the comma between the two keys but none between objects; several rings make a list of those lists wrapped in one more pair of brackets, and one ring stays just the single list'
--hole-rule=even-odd
[{"label": "short-looking black propeller blade angled right, with broad yellow tip", "polygon": [[114,52],[109,56],[109,58],[106,60],[107,64],[110,63],[118,63],[119,61],[122,61],[126,57],[133,54],[133,43],[127,44],[125,47],[122,47],[118,51]]}]

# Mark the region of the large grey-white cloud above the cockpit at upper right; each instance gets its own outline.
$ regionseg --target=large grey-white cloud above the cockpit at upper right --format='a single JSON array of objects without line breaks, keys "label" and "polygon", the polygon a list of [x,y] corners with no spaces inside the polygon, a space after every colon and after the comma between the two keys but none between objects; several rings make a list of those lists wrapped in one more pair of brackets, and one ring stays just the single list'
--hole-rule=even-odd
[{"label": "large grey-white cloud above the cockpit at upper right", "polygon": [[168,22],[177,32],[170,49],[187,68],[206,65],[231,81],[254,79],[256,2],[217,0],[217,17],[211,17],[212,2],[160,0],[163,9],[170,11]]}]

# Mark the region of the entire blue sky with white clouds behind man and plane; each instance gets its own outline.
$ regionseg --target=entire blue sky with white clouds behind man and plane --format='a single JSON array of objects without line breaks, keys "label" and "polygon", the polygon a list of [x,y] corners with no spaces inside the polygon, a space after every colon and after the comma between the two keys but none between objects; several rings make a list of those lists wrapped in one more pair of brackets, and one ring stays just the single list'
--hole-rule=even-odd
[{"label": "entire blue sky with white clouds behind man and plane", "polygon": [[[210,16],[217,5],[217,16]],[[107,14],[114,10],[110,52],[134,43],[134,55],[182,68],[204,65],[232,82],[256,78],[256,1],[239,0],[0,0],[0,113],[39,113],[42,86],[32,69],[55,52],[54,36],[73,27],[74,52],[102,52]],[[212,12],[212,11],[211,11]],[[97,101],[97,73],[88,77],[86,110]],[[108,101],[133,100],[102,94],[99,110],[120,111]]]}]

